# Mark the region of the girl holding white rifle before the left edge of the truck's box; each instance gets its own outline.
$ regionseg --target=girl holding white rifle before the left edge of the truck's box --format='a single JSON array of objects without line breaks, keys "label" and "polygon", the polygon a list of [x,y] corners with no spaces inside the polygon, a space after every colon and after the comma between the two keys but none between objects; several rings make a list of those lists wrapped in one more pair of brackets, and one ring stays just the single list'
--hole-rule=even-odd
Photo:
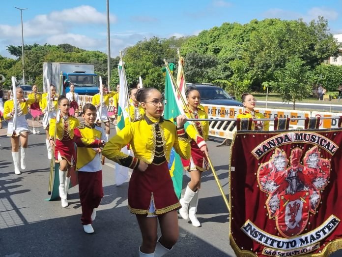
[{"label": "girl holding white rifle before the left edge of the truck's box", "polygon": [[[49,121],[49,124],[50,124],[50,120],[52,118],[56,118],[56,109],[58,107],[58,101],[57,101],[57,94],[56,94],[56,87],[54,85],[50,85],[50,96],[51,96],[51,108],[50,110],[48,110],[48,93],[44,93],[42,95],[42,101],[41,101],[41,104],[40,104],[40,108],[41,108],[41,111],[44,113],[44,117],[45,115],[48,115],[48,121]],[[44,120],[44,119],[43,119]],[[49,124],[43,124],[44,126],[44,129],[46,131],[46,148],[48,149],[48,158],[51,160],[52,158],[52,148],[51,148],[51,145],[49,143],[49,138],[50,138],[50,135],[49,135]]]}]

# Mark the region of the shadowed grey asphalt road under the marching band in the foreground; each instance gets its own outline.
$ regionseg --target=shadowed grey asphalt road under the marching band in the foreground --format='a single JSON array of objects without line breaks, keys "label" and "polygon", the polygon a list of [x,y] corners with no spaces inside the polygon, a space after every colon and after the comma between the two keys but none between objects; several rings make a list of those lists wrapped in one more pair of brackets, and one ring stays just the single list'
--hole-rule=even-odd
[{"label": "shadowed grey asphalt road under the marching band in the foreground", "polygon": [[[93,223],[95,233],[88,235],[80,221],[77,186],[69,191],[67,208],[60,201],[44,200],[50,172],[45,135],[29,135],[27,169],[21,175],[14,174],[9,138],[0,137],[0,144],[1,257],[139,256],[141,235],[127,208],[128,183],[115,185],[112,161],[106,160],[103,166],[105,196]],[[228,192],[229,148],[216,145],[209,141],[212,161]],[[184,175],[183,189],[188,181]],[[168,256],[234,256],[228,240],[228,211],[210,171],[203,174],[201,187],[198,218],[202,227],[179,218],[179,239]]]}]

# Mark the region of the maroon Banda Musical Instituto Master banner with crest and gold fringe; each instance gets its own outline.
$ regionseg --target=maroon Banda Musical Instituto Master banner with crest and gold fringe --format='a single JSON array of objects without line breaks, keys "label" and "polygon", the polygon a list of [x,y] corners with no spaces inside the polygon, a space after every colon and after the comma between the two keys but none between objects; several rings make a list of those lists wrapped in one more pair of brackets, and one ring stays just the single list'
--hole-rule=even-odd
[{"label": "maroon Banda Musical Instituto Master banner with crest and gold fringe", "polygon": [[230,160],[230,244],[237,256],[342,249],[342,129],[237,131]]}]

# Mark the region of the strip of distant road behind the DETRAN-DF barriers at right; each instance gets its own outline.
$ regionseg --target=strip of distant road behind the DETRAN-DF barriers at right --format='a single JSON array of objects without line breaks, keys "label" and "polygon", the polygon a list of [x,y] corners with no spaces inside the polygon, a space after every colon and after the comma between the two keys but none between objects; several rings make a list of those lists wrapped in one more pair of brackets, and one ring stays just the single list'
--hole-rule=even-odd
[{"label": "strip of distant road behind the DETRAN-DF barriers at right", "polygon": [[[342,105],[338,105],[338,106],[337,105],[338,104],[332,104],[332,106],[331,106],[332,112],[342,112]],[[257,102],[257,107],[265,108],[265,106],[266,106],[266,104],[264,101],[258,101]],[[273,109],[283,108],[283,109],[292,110],[293,103],[268,102],[267,108],[273,108]],[[330,112],[330,102],[329,101],[317,101],[317,104],[299,103],[299,104],[296,104],[296,110],[304,110],[304,111],[319,110],[322,112]]]}]

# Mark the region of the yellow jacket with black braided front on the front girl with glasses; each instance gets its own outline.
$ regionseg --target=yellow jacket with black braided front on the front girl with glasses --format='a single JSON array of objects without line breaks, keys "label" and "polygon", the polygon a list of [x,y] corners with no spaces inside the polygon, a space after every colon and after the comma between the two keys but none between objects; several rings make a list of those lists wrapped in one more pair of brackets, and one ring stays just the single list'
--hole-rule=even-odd
[{"label": "yellow jacket with black braided front on the front girl with glasses", "polygon": [[[152,121],[152,122],[151,122]],[[156,130],[154,127],[156,119],[142,116],[142,119],[129,123],[128,126],[120,130],[102,150],[102,155],[108,159],[135,169],[139,165],[139,160],[151,164],[156,149]],[[162,117],[159,119],[159,126],[163,140],[164,155],[170,161],[172,147],[183,159],[188,160],[191,155],[189,139],[186,138],[184,128],[176,128],[174,124]],[[122,147],[128,143],[131,145],[134,156],[121,153]]]}]

